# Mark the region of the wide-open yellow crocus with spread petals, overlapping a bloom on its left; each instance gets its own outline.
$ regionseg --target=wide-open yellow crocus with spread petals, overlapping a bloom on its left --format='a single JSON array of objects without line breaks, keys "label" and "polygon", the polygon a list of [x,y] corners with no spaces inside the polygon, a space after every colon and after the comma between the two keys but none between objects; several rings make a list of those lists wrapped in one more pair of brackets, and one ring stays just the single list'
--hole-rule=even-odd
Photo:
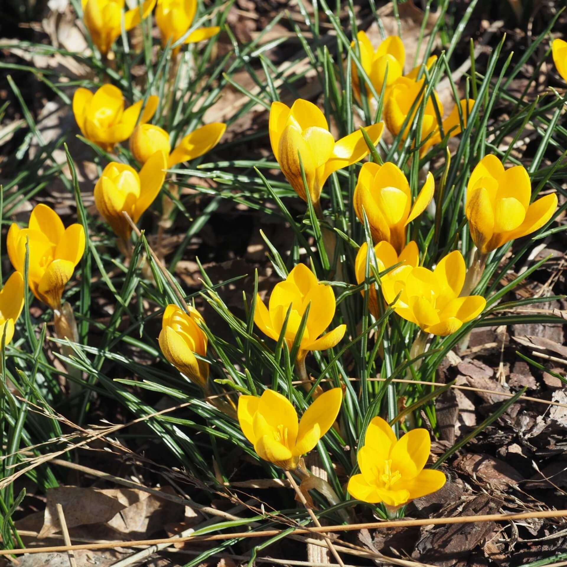
[{"label": "wide-open yellow crocus with spread petals, overlapping a bloom on its left", "polygon": [[[418,267],[402,274],[403,278],[395,280],[384,278],[384,299],[398,315],[419,325],[426,333],[451,335],[479,315],[486,305],[480,295],[459,297],[466,267],[458,250],[439,261],[433,271]],[[399,299],[393,303],[400,292]]]}]

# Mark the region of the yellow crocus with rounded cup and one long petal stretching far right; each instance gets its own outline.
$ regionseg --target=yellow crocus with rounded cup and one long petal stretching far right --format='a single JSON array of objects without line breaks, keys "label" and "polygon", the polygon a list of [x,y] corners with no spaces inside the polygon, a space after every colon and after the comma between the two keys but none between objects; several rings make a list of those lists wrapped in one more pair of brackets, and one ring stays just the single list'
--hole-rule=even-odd
[{"label": "yellow crocus with rounded cup and one long petal stretching far right", "polygon": [[142,124],[137,126],[130,137],[130,150],[138,162],[146,163],[156,151],[164,151],[167,158],[167,167],[174,167],[178,163],[189,162],[212,150],[225,133],[226,124],[212,122],[193,130],[185,136],[171,151],[170,135],[159,126]]}]

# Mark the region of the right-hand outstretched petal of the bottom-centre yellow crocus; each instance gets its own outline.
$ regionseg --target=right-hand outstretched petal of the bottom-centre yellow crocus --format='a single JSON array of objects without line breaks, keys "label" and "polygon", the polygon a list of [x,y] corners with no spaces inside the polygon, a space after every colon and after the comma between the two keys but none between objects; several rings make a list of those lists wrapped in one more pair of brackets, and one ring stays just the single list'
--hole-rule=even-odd
[{"label": "right-hand outstretched petal of the bottom-centre yellow crocus", "polygon": [[295,455],[311,451],[338,416],[342,403],[341,388],[323,392],[306,410],[299,421]]}]

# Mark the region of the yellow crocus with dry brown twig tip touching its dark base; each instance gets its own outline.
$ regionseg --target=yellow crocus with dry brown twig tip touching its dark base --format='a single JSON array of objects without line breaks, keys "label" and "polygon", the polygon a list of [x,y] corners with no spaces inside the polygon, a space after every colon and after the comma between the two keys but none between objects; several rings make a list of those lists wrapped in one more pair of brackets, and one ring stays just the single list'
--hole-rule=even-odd
[{"label": "yellow crocus with dry brown twig tip touching its dark base", "polygon": [[154,202],[166,178],[167,158],[156,151],[139,172],[125,163],[111,162],[95,185],[95,205],[101,216],[122,240],[128,242],[132,227],[122,214],[138,222]]}]

